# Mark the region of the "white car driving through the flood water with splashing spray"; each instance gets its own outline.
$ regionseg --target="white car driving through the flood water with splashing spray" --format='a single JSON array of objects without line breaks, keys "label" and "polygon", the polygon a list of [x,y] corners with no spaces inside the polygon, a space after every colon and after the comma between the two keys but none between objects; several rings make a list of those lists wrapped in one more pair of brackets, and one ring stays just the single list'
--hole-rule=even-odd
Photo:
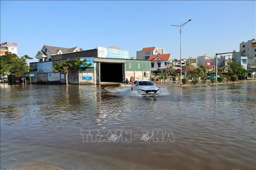
[{"label": "white car driving through the flood water with splashing spray", "polygon": [[132,91],[137,91],[142,96],[157,96],[160,94],[159,88],[148,80],[136,80],[132,84]]}]

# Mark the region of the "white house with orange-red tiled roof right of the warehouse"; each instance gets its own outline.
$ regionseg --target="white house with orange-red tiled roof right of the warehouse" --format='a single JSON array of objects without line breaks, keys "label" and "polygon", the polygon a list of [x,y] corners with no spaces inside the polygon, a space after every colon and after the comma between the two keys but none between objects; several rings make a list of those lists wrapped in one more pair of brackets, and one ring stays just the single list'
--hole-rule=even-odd
[{"label": "white house with orange-red tiled roof right of the warehouse", "polygon": [[171,54],[155,54],[149,57],[152,71],[163,71],[171,66]]}]

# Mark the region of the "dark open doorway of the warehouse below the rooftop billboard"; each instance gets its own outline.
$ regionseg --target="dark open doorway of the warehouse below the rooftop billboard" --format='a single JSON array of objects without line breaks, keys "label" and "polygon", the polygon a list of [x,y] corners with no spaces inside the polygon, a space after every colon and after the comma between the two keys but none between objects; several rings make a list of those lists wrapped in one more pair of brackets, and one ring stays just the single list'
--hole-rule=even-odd
[{"label": "dark open doorway of the warehouse below the rooftop billboard", "polygon": [[100,63],[100,82],[122,82],[122,63]]}]

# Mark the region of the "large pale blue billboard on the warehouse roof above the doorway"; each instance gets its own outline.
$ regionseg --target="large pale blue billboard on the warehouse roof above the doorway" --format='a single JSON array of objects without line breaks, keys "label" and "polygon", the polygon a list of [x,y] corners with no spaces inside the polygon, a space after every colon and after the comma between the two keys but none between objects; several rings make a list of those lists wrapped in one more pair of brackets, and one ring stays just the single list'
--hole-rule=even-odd
[{"label": "large pale blue billboard on the warehouse roof above the doorway", "polygon": [[98,47],[99,58],[129,59],[129,51],[112,48]]}]

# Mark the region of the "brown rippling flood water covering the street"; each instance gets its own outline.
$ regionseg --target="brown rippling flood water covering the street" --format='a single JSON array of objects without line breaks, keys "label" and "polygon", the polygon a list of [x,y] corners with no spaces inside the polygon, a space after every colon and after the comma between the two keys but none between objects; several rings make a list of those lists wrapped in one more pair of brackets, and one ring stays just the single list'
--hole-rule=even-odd
[{"label": "brown rippling flood water covering the street", "polygon": [[[1,84],[1,168],[256,168],[256,81],[157,86],[160,96],[139,97],[129,86]],[[107,129],[131,130],[131,142],[83,142],[81,130]],[[172,130],[175,142],[145,142],[142,130]]]}]

